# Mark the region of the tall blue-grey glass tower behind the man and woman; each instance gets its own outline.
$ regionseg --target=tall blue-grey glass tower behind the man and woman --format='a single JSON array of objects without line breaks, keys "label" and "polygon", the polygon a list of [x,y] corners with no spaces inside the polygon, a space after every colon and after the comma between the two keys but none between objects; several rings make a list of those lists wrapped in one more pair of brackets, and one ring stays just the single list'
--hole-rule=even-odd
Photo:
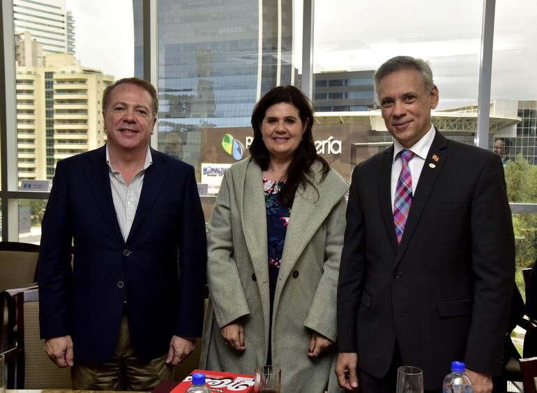
[{"label": "tall blue-grey glass tower behind the man and woman", "polygon": [[[202,129],[247,127],[264,93],[294,84],[292,0],[160,0],[158,7],[158,147],[197,165]],[[142,76],[141,2],[133,8]]]}]

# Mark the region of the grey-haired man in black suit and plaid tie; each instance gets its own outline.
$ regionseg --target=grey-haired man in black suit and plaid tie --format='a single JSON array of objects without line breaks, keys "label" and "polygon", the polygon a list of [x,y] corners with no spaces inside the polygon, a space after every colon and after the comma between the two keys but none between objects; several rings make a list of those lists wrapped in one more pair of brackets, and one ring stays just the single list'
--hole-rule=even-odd
[{"label": "grey-haired man in black suit and plaid tie", "polygon": [[340,385],[395,392],[404,364],[423,369],[425,390],[439,392],[451,361],[462,360],[474,392],[490,392],[515,261],[501,160],[432,126],[439,92],[424,61],[390,59],[375,85],[395,140],[352,175],[338,286]]}]

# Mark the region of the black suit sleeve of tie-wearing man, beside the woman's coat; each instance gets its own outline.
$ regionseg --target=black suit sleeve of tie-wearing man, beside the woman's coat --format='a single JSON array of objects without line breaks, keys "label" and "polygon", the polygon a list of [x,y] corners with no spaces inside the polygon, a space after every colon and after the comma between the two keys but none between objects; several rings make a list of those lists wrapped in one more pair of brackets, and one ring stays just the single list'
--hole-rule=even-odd
[{"label": "black suit sleeve of tie-wearing man, beside the woman's coat", "polygon": [[354,169],[347,203],[347,226],[338,281],[338,350],[358,352],[356,343],[358,307],[365,282],[364,215],[358,195],[358,171]]}]

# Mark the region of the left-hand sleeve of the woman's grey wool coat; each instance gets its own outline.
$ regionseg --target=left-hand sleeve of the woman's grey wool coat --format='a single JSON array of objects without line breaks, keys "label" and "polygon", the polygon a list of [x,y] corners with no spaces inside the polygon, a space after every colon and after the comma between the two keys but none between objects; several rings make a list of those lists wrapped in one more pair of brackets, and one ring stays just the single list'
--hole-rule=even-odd
[{"label": "left-hand sleeve of the woman's grey wool coat", "polygon": [[234,260],[232,183],[229,170],[222,179],[209,221],[207,280],[218,327],[250,314],[239,269]]}]

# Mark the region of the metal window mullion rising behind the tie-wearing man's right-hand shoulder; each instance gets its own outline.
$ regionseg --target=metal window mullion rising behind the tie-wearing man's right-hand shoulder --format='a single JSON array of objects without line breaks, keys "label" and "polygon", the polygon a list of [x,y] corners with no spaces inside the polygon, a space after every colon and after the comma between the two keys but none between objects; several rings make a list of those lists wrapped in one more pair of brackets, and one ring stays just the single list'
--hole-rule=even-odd
[{"label": "metal window mullion rising behind the tie-wearing man's right-hand shoulder", "polygon": [[478,118],[474,143],[488,148],[490,86],[492,79],[492,44],[494,42],[494,11],[496,0],[483,0],[483,23],[481,26],[481,59],[479,66]]}]

